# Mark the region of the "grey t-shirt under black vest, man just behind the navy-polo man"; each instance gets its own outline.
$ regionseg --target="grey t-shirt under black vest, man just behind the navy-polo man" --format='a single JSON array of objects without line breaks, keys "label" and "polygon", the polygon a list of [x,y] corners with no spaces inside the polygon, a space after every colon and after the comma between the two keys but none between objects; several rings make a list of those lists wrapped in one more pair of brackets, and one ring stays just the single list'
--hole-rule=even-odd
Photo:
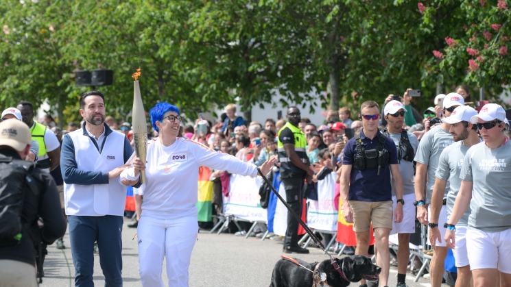
[{"label": "grey t-shirt under black vest, man just behind the navy-polo man", "polygon": [[[412,148],[414,149],[414,153],[417,151],[418,140],[417,137],[411,132],[406,132],[408,135],[408,140]],[[403,195],[410,195],[415,192],[414,190],[414,163],[409,162],[407,160],[403,160],[403,147],[400,148],[399,141],[401,140],[401,133],[399,134],[390,134],[390,138],[394,140],[396,144],[397,154],[398,154],[398,162],[399,162],[399,173],[401,173],[401,178],[403,179]],[[392,181],[391,181],[392,183]],[[396,195],[396,190],[394,186],[392,186],[392,195]]]}]

